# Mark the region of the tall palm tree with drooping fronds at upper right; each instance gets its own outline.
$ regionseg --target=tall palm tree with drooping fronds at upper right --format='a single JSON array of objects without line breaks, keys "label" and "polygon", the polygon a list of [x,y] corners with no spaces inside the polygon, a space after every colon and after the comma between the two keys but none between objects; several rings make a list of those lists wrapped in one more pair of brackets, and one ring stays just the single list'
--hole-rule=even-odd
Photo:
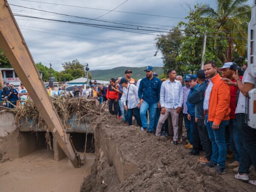
[{"label": "tall palm tree with drooping fronds at upper right", "polygon": [[224,50],[223,62],[230,62],[233,58],[233,48],[239,55],[244,55],[247,44],[247,23],[250,20],[251,6],[246,5],[248,0],[216,0],[217,7],[212,9],[205,6],[201,9],[201,16],[208,16],[218,23],[217,35],[225,34],[227,49]]}]

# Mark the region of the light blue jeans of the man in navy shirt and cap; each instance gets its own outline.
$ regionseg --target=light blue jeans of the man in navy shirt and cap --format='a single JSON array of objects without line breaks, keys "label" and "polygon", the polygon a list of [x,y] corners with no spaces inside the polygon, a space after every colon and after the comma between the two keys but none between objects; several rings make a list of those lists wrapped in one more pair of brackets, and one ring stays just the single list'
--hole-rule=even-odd
[{"label": "light blue jeans of the man in navy shirt and cap", "polygon": [[[149,108],[149,127],[148,127],[148,120],[146,117],[146,112]],[[142,102],[140,106],[140,119],[142,123],[143,128],[148,128],[148,131],[154,131],[154,125],[155,125],[155,116],[157,112],[157,103],[148,104],[146,102]]]}]

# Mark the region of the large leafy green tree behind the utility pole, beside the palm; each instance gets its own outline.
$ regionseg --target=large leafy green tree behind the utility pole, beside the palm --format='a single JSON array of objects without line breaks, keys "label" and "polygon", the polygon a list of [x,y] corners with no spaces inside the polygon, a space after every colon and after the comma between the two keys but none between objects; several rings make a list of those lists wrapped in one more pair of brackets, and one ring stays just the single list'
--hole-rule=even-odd
[{"label": "large leafy green tree behind the utility pole, beside the palm", "polygon": [[202,48],[205,32],[211,36],[207,37],[204,61],[215,61],[221,65],[221,58],[224,57],[223,51],[227,47],[227,41],[221,37],[215,37],[217,33],[217,22],[211,17],[201,17],[199,14],[205,6],[195,5],[190,8],[188,21],[180,22],[178,26],[183,28],[184,35],[180,54],[177,55],[176,61],[182,62],[182,71],[185,73],[195,73],[201,68]]}]

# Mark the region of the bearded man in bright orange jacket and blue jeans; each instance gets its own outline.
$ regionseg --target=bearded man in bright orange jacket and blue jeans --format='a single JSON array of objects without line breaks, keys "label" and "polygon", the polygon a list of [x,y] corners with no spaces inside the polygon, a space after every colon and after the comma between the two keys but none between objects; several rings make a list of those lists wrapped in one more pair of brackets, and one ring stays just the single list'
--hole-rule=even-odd
[{"label": "bearded man in bright orange jacket and blue jeans", "polygon": [[216,172],[224,174],[227,155],[225,127],[230,119],[230,87],[221,81],[215,62],[206,62],[204,73],[209,78],[204,97],[205,124],[212,142],[211,160],[204,165],[214,167]]}]

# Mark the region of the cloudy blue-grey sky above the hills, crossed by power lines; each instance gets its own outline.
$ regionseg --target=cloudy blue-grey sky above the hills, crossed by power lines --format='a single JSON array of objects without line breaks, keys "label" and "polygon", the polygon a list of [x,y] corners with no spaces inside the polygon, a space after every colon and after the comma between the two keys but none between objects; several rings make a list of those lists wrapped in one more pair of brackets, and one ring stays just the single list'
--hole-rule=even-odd
[{"label": "cloudy blue-grey sky above the hills, crossed by power lines", "polygon": [[[215,0],[35,1],[37,2],[9,0],[9,3],[13,4],[11,5],[12,12],[16,15],[28,15],[32,17],[51,19],[42,20],[38,18],[15,16],[35,62],[41,61],[42,64],[48,67],[49,63],[52,63],[54,69],[58,71],[62,70],[62,63],[72,61],[76,58],[82,64],[88,63],[90,70],[111,69],[113,67],[120,66],[143,67],[146,65],[152,65],[161,67],[163,66],[161,54],[158,53],[157,56],[154,56],[154,53],[156,52],[156,48],[154,46],[156,38],[155,35],[160,34],[159,31],[171,29],[172,26],[177,25],[177,23],[182,20],[186,21],[182,19],[187,15],[188,7],[186,6],[186,3],[189,3],[190,5],[206,3],[215,7]],[[33,9],[27,9],[24,7]],[[42,12],[34,9],[48,12]],[[113,9],[115,10],[112,12],[107,11]],[[49,12],[85,18],[69,17]],[[86,18],[97,18],[97,20],[88,20]],[[52,20],[64,20],[93,25],[96,24],[97,27],[63,23]],[[126,31],[120,31],[120,28],[116,28],[118,30],[102,29],[99,28],[99,25],[121,26],[137,29],[122,28],[122,30]],[[140,26],[152,28],[142,28]],[[151,31],[140,31],[138,29],[147,29]],[[127,32],[127,30],[147,34]],[[158,32],[154,32],[153,30]]]}]

